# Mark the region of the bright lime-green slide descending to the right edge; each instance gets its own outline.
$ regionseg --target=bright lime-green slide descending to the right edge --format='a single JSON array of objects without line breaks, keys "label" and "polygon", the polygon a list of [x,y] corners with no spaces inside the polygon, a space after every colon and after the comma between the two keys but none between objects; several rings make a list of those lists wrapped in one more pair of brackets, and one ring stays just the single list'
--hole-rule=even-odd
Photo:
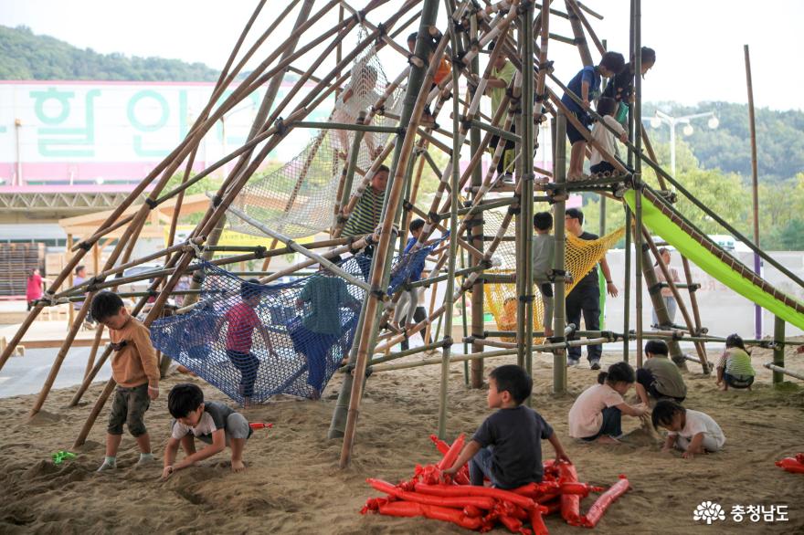
[{"label": "bright lime-green slide descending to the right edge", "polygon": [[[634,209],[635,194],[629,191],[625,194],[625,201],[630,208]],[[783,301],[768,294],[762,288],[757,287],[750,280],[743,278],[734,269],[714,256],[704,246],[699,244],[692,236],[688,235],[664,215],[659,207],[651,202],[651,199],[642,197],[642,223],[651,229],[651,232],[658,234],[664,240],[678,249],[696,266],[701,267],[706,273],[716,278],[727,287],[732,288],[746,299],[755,302],[763,309],[776,314],[782,320],[795,325],[799,329],[804,329],[804,314]]]}]

